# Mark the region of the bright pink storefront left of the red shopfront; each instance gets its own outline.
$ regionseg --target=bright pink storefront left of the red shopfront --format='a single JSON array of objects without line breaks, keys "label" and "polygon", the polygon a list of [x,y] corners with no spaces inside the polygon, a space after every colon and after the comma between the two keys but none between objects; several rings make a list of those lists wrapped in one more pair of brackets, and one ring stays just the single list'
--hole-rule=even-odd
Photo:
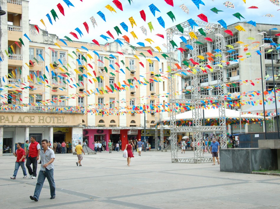
[{"label": "bright pink storefront left of the red shopfront", "polygon": [[88,146],[94,150],[94,141],[106,141],[106,150],[108,151],[109,130],[108,129],[84,129],[84,136],[88,138]]}]

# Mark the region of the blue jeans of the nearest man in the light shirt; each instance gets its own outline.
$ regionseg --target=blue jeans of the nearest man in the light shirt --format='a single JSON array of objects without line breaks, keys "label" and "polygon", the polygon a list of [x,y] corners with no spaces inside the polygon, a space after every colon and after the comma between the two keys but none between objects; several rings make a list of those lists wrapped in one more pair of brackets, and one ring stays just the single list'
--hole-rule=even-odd
[{"label": "blue jeans of the nearest man in the light shirt", "polygon": [[38,175],[37,184],[34,191],[34,197],[37,200],[39,200],[39,196],[46,178],[50,185],[51,196],[55,196],[55,180],[53,179],[53,169],[48,170],[46,168],[45,171],[40,171]]}]

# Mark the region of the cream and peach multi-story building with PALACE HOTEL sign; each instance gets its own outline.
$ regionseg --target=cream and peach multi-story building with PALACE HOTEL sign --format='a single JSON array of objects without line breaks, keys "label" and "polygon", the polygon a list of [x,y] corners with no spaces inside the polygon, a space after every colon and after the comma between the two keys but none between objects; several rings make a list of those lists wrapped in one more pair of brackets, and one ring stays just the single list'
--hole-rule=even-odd
[{"label": "cream and peach multi-story building with PALACE HOTEL sign", "polygon": [[168,116],[167,60],[160,53],[124,40],[123,46],[61,41],[29,25],[28,1],[1,6],[7,11],[0,19],[1,154],[30,136],[84,140],[91,148],[109,139],[127,144],[143,139],[144,126],[146,141],[157,147],[154,124],[160,112]]}]

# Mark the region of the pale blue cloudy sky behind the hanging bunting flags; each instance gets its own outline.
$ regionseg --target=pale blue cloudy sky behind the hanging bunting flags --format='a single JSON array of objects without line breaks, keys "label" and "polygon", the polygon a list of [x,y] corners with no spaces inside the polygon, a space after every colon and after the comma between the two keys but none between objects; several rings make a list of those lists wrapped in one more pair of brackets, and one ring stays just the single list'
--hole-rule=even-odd
[{"label": "pale blue cloudy sky behind the hanging bunting flags", "polygon": [[[117,38],[122,38],[126,35],[130,39],[130,44],[134,46],[139,46],[137,43],[142,42],[145,46],[164,48],[162,44],[166,44],[166,29],[172,26],[175,26],[179,23],[185,22],[188,19],[192,18],[193,20],[201,20],[197,15],[204,14],[208,18],[208,22],[217,23],[217,21],[223,19],[227,25],[233,24],[240,21],[238,18],[234,17],[233,14],[239,12],[244,18],[241,18],[241,21],[255,21],[256,23],[270,23],[270,24],[279,24],[280,19],[280,7],[271,3],[273,0],[246,0],[246,4],[243,0],[231,0],[230,2],[234,4],[234,9],[227,8],[224,5],[225,0],[202,0],[205,6],[200,4],[199,9],[193,1],[199,0],[173,0],[174,6],[168,5],[164,0],[131,0],[131,5],[129,0],[119,0],[122,4],[123,11],[118,9],[112,0],[70,0],[74,5],[68,6],[63,0],[29,0],[29,20],[31,24],[36,24],[39,28],[47,30],[48,33],[56,34],[59,38],[68,36],[73,41],[83,41],[93,43],[92,40],[97,40],[100,44],[105,44],[107,42],[112,42]],[[275,0],[276,1],[276,0]],[[63,16],[57,4],[61,4],[64,8]],[[106,5],[111,5],[115,12],[111,12],[105,8]],[[159,11],[155,12],[155,16],[151,13],[149,5],[154,4]],[[189,14],[184,12],[179,6],[185,4],[189,9]],[[248,7],[256,6],[258,9],[247,9]],[[221,12],[215,14],[210,11],[213,7],[216,7]],[[51,10],[54,9],[57,13],[59,19],[54,21]],[[140,11],[144,10],[146,14],[146,21],[144,21],[140,16]],[[101,11],[106,18],[106,22],[97,14],[98,11]],[[167,12],[172,11],[175,16],[175,20],[167,15]],[[47,14],[50,14],[52,18],[53,25],[50,24]],[[274,17],[266,17],[264,15],[272,14]],[[90,21],[90,17],[94,17],[97,26],[93,27],[93,24]],[[132,28],[129,18],[133,17],[136,25]],[[162,27],[157,18],[162,17],[164,20],[165,26]],[[43,19],[45,26],[40,22]],[[89,33],[85,30],[83,23],[86,22],[89,26]],[[124,31],[120,23],[126,23],[128,26],[128,32]],[[148,23],[151,22],[154,30],[150,31]],[[117,35],[114,27],[118,26],[122,34]],[[144,26],[147,30],[147,36],[141,31],[140,27]],[[79,28],[83,36],[80,37],[75,28]],[[246,29],[246,28],[245,28]],[[280,27],[279,27],[280,29]],[[34,28],[34,30],[36,30]],[[78,35],[79,39],[74,38],[70,32],[75,32]],[[114,36],[114,39],[111,38],[106,32],[110,31]],[[133,38],[131,31],[134,31],[138,39]],[[100,35],[105,35],[110,37],[108,41],[101,38]],[[164,35],[164,39],[157,36],[156,34]],[[153,42],[148,43],[144,39],[150,38]],[[123,38],[122,38],[123,39]],[[178,45],[179,47],[179,45]]]}]

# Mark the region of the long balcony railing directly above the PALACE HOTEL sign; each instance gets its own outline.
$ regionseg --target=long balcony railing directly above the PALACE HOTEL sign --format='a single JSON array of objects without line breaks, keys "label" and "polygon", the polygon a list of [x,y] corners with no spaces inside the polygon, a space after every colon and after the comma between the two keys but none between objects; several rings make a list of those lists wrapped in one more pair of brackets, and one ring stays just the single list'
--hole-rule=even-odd
[{"label": "long balcony railing directly above the PALACE HOTEL sign", "polygon": [[21,112],[21,113],[76,113],[84,114],[85,108],[80,106],[54,106],[54,105],[37,105],[21,107],[20,105],[1,105],[0,112]]}]

